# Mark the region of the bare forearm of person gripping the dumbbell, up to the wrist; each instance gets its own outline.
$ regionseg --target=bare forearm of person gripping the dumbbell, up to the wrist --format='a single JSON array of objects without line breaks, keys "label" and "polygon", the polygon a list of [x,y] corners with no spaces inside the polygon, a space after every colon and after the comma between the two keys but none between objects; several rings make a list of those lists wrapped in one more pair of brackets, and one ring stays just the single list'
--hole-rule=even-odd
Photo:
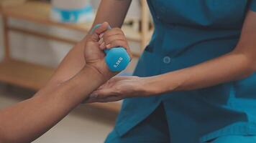
[{"label": "bare forearm of person gripping the dumbbell, up to the wrist", "polygon": [[88,94],[104,83],[101,74],[85,66],[75,77],[24,102],[0,111],[0,142],[32,142],[57,124]]}]

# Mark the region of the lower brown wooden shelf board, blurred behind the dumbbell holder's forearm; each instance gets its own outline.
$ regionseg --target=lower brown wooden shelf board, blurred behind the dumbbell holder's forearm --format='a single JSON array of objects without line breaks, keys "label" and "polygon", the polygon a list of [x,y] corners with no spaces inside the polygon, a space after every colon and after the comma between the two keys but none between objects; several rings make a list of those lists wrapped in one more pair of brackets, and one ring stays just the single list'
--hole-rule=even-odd
[{"label": "lower brown wooden shelf board, blurred behind the dumbbell holder's forearm", "polygon": [[[53,68],[32,64],[14,59],[0,62],[0,81],[14,84],[19,87],[38,90],[45,86],[54,72]],[[119,112],[121,104],[113,103],[93,103],[89,104],[112,112]]]}]

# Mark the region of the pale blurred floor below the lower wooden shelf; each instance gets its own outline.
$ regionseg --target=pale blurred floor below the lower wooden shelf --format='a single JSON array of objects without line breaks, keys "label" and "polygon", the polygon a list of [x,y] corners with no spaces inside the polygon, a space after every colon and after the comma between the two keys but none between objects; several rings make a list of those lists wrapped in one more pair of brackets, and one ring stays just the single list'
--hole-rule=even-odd
[{"label": "pale blurred floor below the lower wooden shelf", "polygon": [[[0,108],[31,97],[34,92],[0,83]],[[111,131],[116,113],[81,105],[34,143],[100,143]]]}]

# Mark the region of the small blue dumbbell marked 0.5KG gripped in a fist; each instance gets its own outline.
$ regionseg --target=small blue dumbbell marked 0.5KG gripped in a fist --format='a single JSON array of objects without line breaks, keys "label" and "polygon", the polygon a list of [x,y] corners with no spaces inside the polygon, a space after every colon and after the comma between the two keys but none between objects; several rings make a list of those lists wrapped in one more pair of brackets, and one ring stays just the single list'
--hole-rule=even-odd
[{"label": "small blue dumbbell marked 0.5KG gripped in a fist", "polygon": [[[99,26],[101,26],[101,24],[96,24],[91,32],[93,32]],[[109,27],[109,29],[111,29],[111,27]],[[105,61],[110,71],[122,71],[129,64],[130,57],[124,47],[119,46],[112,49],[105,49],[104,53],[106,54]]]}]

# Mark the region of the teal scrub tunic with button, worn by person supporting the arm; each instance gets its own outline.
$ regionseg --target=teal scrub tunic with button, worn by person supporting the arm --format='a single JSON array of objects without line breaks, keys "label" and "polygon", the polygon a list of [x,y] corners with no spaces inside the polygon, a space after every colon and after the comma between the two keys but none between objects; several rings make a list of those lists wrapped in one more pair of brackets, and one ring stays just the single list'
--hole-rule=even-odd
[{"label": "teal scrub tunic with button, worn by person supporting the arm", "polygon": [[[155,31],[134,71],[139,77],[183,69],[229,53],[237,45],[247,11],[256,11],[256,0],[147,2]],[[114,129],[124,135],[163,104],[172,143],[256,135],[255,87],[256,73],[204,89],[125,99]]]}]

